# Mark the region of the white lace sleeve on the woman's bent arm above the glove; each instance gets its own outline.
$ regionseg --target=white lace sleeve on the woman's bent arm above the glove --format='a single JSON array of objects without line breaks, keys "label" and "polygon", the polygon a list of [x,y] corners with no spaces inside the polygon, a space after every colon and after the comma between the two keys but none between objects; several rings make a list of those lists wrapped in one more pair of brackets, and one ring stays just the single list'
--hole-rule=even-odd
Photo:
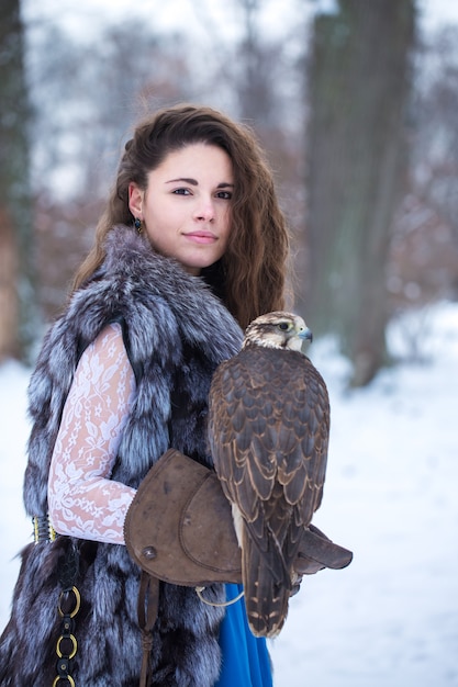
[{"label": "white lace sleeve on the woman's bent arm above the glove", "polygon": [[124,543],[135,489],[110,475],[134,391],[121,327],[110,325],[81,356],[64,407],[48,481],[56,532]]}]

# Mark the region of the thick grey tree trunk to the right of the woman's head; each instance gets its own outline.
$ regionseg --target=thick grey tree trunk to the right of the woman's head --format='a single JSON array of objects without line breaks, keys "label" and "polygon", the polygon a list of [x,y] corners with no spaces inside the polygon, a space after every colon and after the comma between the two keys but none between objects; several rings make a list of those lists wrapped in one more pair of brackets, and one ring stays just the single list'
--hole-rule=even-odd
[{"label": "thick grey tree trunk to the right of the woman's head", "polygon": [[406,170],[413,0],[339,0],[315,20],[310,75],[308,312],[354,363],[386,361],[386,264]]}]

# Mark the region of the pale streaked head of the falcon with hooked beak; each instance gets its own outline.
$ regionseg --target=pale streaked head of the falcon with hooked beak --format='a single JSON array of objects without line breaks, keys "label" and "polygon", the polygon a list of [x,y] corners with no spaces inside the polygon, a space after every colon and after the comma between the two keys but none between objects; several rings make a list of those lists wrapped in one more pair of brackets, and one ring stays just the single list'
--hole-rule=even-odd
[{"label": "pale streaked head of the falcon with hooked beak", "polygon": [[312,341],[312,331],[302,317],[278,311],[261,315],[247,326],[243,348],[255,345],[300,351],[305,339]]}]

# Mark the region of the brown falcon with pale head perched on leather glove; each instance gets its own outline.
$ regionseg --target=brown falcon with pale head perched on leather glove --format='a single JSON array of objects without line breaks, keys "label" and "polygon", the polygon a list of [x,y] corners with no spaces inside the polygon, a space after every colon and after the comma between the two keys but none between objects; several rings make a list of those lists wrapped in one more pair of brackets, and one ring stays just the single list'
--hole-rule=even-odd
[{"label": "brown falcon with pale head perched on leather glove", "polygon": [[257,317],[210,388],[209,444],[232,504],[256,637],[276,637],[284,623],[301,533],[322,500],[329,402],[301,351],[306,339],[312,333],[299,315]]}]

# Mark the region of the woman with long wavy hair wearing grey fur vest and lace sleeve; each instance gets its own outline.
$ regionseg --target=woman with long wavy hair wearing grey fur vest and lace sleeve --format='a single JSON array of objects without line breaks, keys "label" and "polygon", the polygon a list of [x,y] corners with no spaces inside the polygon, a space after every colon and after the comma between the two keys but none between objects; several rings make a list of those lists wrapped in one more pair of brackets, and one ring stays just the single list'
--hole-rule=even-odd
[{"label": "woman with long wavy hair wearing grey fur vest and lace sleeve", "polygon": [[[283,307],[287,252],[272,177],[247,128],[180,105],[135,129],[31,380],[24,499],[36,543],[23,552],[1,639],[2,687],[138,684],[127,509],[170,447],[211,461],[212,372],[238,350],[241,326]],[[226,597],[223,585],[206,592]],[[164,584],[153,638],[153,685],[271,685],[243,604],[224,610]]]}]

